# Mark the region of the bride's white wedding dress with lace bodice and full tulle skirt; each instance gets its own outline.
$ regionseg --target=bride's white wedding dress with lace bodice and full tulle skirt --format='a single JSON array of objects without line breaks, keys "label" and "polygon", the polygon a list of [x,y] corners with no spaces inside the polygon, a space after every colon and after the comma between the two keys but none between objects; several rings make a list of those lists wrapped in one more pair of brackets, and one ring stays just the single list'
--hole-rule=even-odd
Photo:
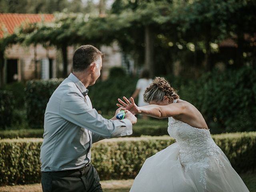
[{"label": "bride's white wedding dress with lace bodice and full tulle skirt", "polygon": [[176,142],[146,159],[130,192],[249,192],[206,129],[170,117]]}]

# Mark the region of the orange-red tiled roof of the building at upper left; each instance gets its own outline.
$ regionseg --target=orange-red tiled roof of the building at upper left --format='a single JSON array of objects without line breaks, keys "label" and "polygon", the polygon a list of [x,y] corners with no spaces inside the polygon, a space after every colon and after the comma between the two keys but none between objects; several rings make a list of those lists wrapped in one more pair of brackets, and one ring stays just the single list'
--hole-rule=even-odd
[{"label": "orange-red tiled roof of the building at upper left", "polygon": [[[4,30],[12,34],[14,29],[22,23],[35,23],[41,20],[50,22],[54,20],[53,14],[18,14],[18,13],[0,13],[0,38],[4,36]],[[5,28],[5,29],[4,29]]]}]

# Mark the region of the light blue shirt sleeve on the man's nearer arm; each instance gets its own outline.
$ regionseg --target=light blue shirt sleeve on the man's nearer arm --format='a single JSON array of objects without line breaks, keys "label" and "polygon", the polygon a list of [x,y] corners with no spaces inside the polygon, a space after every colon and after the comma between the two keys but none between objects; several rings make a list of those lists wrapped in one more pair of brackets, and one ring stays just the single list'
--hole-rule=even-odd
[{"label": "light blue shirt sleeve on the man's nearer arm", "polygon": [[[103,118],[93,108],[90,108],[84,99],[76,92],[62,96],[59,114],[62,118],[78,126],[84,127],[103,138],[112,138],[132,134],[132,123],[128,119],[108,120]],[[96,135],[95,135],[96,136]]]}]

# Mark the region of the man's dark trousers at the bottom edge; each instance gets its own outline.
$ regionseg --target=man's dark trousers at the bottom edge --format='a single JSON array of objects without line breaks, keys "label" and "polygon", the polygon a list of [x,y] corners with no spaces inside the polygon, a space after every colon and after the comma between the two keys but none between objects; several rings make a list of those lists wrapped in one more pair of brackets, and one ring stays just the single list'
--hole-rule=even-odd
[{"label": "man's dark trousers at the bottom edge", "polygon": [[98,172],[91,164],[76,170],[41,173],[43,192],[102,192]]}]

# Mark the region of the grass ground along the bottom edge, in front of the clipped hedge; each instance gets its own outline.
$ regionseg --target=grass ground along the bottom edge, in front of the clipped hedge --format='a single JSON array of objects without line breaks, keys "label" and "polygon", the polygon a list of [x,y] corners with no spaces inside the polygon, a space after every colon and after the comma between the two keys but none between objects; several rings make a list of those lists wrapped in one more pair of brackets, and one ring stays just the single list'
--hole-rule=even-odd
[{"label": "grass ground along the bottom edge, in front of the clipped hedge", "polygon": [[[256,173],[240,174],[250,192],[256,192]],[[104,192],[129,192],[133,180],[108,180],[100,182]],[[41,184],[2,186],[0,192],[42,192]]]}]

